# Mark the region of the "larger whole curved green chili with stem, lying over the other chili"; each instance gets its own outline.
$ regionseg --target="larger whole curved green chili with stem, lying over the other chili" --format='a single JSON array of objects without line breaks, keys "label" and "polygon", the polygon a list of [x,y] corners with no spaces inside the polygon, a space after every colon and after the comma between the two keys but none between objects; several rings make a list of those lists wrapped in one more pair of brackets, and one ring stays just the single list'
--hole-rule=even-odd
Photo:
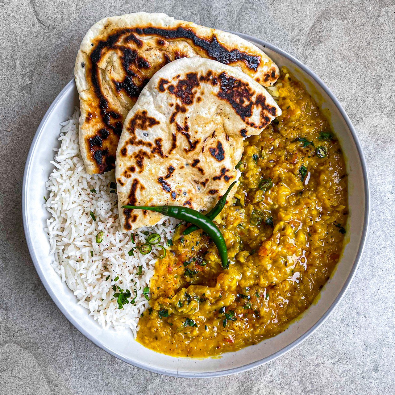
[{"label": "larger whole curved green chili with stem, lying over the other chili", "polygon": [[[199,211],[190,209],[188,207],[182,207],[182,206],[152,206],[152,207],[149,207],[149,206],[126,205],[126,206],[122,206],[122,209],[139,209],[139,210],[156,211],[157,213],[161,213],[163,215],[167,215],[169,217],[176,218],[178,220],[190,222],[191,224],[198,226],[205,233],[207,233],[207,235],[209,235],[211,237],[214,244],[217,246],[218,253],[219,253],[221,261],[222,261],[222,267],[224,269],[229,267],[228,249],[226,248],[224,236],[222,236],[221,231],[217,228],[217,226],[214,224],[214,222],[211,219],[207,218],[207,216],[205,216],[204,214],[199,213]],[[140,249],[140,251],[141,251],[141,249]]]}]

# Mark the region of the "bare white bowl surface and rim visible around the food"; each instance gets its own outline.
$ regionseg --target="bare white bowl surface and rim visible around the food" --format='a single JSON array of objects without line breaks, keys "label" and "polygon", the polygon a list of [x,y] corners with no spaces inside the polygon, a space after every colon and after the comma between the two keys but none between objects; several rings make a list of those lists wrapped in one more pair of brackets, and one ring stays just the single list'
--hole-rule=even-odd
[{"label": "bare white bowl surface and rim visible around the food", "polygon": [[92,342],[123,361],[152,372],[183,377],[224,376],[262,365],[291,350],[311,335],[339,303],[355,274],[365,243],[369,217],[369,186],[365,160],[354,128],[339,101],[312,71],[292,56],[261,40],[243,34],[239,36],[264,49],[276,64],[288,67],[295,77],[306,84],[320,106],[328,110],[329,120],[346,156],[350,208],[346,233],[348,243],[337,269],[321,291],[317,303],[308,308],[303,317],[283,333],[237,352],[222,354],[220,358],[191,359],[153,352],[132,340],[130,331],[119,333],[112,329],[102,329],[88,316],[87,309],[77,305],[71,290],[66,283],[61,282],[51,267],[49,241],[44,231],[48,213],[42,204],[45,182],[53,170],[49,163],[54,156],[52,147],[59,146],[57,139],[60,122],[72,115],[75,105],[78,105],[74,80],[64,87],[49,107],[27,157],[22,196],[24,230],[30,255],[49,295],[68,320]]}]

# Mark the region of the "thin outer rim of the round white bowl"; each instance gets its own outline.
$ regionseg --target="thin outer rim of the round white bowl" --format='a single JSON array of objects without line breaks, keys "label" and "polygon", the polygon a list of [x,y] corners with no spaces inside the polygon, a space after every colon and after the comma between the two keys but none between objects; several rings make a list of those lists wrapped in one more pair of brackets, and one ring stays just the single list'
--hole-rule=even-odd
[{"label": "thin outer rim of the round white bowl", "polygon": [[325,83],[320,79],[320,77],[318,77],[318,75],[316,75],[313,71],[311,71],[307,66],[305,66],[304,64],[302,64],[299,60],[297,60],[295,57],[293,57],[292,55],[288,54],[286,51],[276,47],[273,44],[267,43],[264,40],[261,40],[259,38],[255,38],[253,36],[249,36],[247,34],[243,34],[243,33],[239,33],[239,32],[234,32],[231,30],[228,30],[228,32],[233,33],[233,34],[237,34],[237,36],[248,40],[254,44],[259,44],[262,45],[264,48],[268,48],[271,51],[274,51],[276,53],[278,53],[281,56],[284,56],[284,58],[287,58],[288,60],[290,60],[291,62],[293,62],[297,67],[299,67],[304,73],[306,73],[307,75],[309,75],[314,81],[315,83],[317,83],[320,88],[322,88],[322,90],[324,90],[324,92],[329,96],[329,98],[331,99],[331,101],[335,104],[335,106],[337,107],[337,109],[339,110],[340,115],[342,116],[342,118],[344,119],[344,121],[346,122],[350,133],[352,135],[352,139],[354,140],[354,144],[355,147],[357,149],[358,155],[359,155],[359,160],[361,163],[361,170],[362,170],[362,175],[363,175],[363,181],[364,181],[364,197],[365,197],[365,210],[364,210],[364,223],[363,223],[363,229],[362,229],[362,233],[361,233],[361,239],[359,242],[359,247],[358,247],[358,251],[354,260],[354,263],[351,267],[350,273],[342,287],[342,289],[340,290],[339,294],[337,295],[337,297],[335,298],[335,300],[333,301],[333,303],[329,306],[329,308],[325,311],[324,314],[322,314],[321,318],[314,324],[312,325],[312,327],[310,329],[308,329],[305,333],[303,333],[303,335],[299,336],[296,340],[294,340],[292,343],[288,344],[287,346],[284,346],[283,348],[281,348],[280,350],[278,350],[277,352],[262,358],[258,361],[255,362],[251,362],[248,363],[246,365],[240,366],[240,367],[235,367],[235,368],[230,368],[230,369],[224,369],[221,371],[216,371],[216,372],[203,372],[203,373],[198,373],[198,372],[179,372],[177,370],[176,372],[169,372],[169,371],[165,371],[164,369],[158,369],[149,365],[143,365],[140,364],[136,361],[130,361],[128,358],[126,357],[122,357],[121,355],[117,354],[115,351],[111,350],[111,348],[109,348],[108,346],[106,346],[105,344],[103,344],[100,340],[96,339],[95,337],[93,337],[92,335],[90,335],[90,333],[88,333],[77,321],[75,321],[73,319],[73,317],[68,313],[68,311],[63,308],[62,304],[60,303],[60,299],[55,295],[55,293],[52,292],[51,287],[49,286],[49,283],[47,282],[47,279],[44,276],[44,273],[41,271],[40,265],[38,263],[38,260],[36,258],[36,256],[33,253],[33,245],[32,245],[32,239],[30,238],[30,234],[29,234],[29,224],[26,218],[26,210],[27,210],[27,196],[26,196],[26,184],[27,184],[27,174],[29,172],[30,169],[30,165],[31,165],[31,158],[32,158],[32,154],[34,152],[34,150],[36,149],[36,144],[37,144],[37,140],[38,137],[41,134],[41,130],[43,129],[43,127],[45,126],[45,124],[48,122],[48,119],[50,117],[50,115],[52,114],[52,112],[54,111],[54,109],[56,108],[58,102],[62,99],[62,97],[66,94],[66,92],[68,92],[69,90],[73,89],[73,86],[75,84],[74,82],[74,78],[71,79],[71,81],[60,91],[60,93],[58,94],[58,96],[56,96],[55,100],[52,102],[52,104],[50,105],[49,109],[46,111],[43,119],[41,120],[36,133],[34,134],[32,143],[30,145],[30,149],[28,151],[28,155],[26,158],[26,164],[24,167],[24,173],[23,173],[23,186],[22,186],[22,217],[23,217],[23,228],[24,228],[24,235],[25,235],[25,239],[26,239],[26,243],[28,246],[28,250],[29,250],[29,254],[30,257],[33,261],[34,267],[36,268],[36,271],[40,277],[41,282],[43,283],[45,289],[47,290],[47,292],[49,293],[49,296],[51,297],[51,299],[54,301],[54,303],[56,304],[56,306],[59,308],[59,310],[62,312],[62,314],[68,319],[68,321],[78,330],[80,331],[85,337],[87,337],[87,339],[89,339],[90,341],[92,341],[94,344],[96,344],[96,346],[99,346],[100,348],[102,348],[103,350],[105,350],[106,352],[108,352],[109,354],[115,356],[118,359],[121,359],[122,361],[129,363],[132,366],[138,367],[140,369],[144,369],[146,371],[150,371],[153,373],[158,373],[158,374],[163,374],[166,376],[174,376],[174,377],[185,377],[185,378],[206,378],[206,377],[221,377],[221,376],[228,376],[230,374],[236,374],[236,373],[240,373],[240,372],[244,372],[250,369],[253,369],[254,367],[258,367],[261,366],[265,363],[268,363],[270,361],[273,361],[274,359],[280,357],[281,355],[284,355],[286,352],[292,350],[293,348],[295,348],[296,346],[298,346],[301,342],[303,342],[304,340],[306,340],[310,335],[312,335],[312,333],[314,333],[324,322],[325,320],[329,317],[329,315],[331,314],[331,312],[334,310],[334,308],[339,304],[340,300],[342,299],[342,297],[344,296],[344,294],[347,292],[348,287],[350,286],[354,276],[355,276],[355,272],[359,266],[359,262],[361,260],[361,256],[363,254],[363,250],[365,248],[365,244],[366,244],[366,239],[367,239],[367,230],[369,227],[369,216],[370,216],[370,191],[369,191],[369,179],[368,179],[368,172],[367,172],[367,164],[366,164],[366,160],[365,160],[365,156],[363,154],[363,150],[361,147],[361,143],[359,142],[359,139],[357,137],[357,134],[355,132],[354,126],[352,125],[352,122],[350,121],[348,115],[346,114],[346,112],[344,111],[342,105],[340,104],[339,100],[334,96],[334,94],[331,92],[331,90],[325,85]]}]

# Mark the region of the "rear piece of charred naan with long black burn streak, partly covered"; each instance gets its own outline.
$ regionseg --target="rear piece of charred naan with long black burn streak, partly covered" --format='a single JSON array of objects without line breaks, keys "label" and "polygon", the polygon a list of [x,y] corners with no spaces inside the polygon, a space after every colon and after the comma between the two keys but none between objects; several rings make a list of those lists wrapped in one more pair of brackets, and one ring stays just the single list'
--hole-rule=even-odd
[{"label": "rear piece of charred naan with long black burn streak, partly covered", "polygon": [[279,75],[273,61],[248,41],[165,14],[105,18],[89,29],[75,62],[80,146],[88,173],[114,168],[124,119],[152,75],[192,56],[238,67],[263,86]]}]

